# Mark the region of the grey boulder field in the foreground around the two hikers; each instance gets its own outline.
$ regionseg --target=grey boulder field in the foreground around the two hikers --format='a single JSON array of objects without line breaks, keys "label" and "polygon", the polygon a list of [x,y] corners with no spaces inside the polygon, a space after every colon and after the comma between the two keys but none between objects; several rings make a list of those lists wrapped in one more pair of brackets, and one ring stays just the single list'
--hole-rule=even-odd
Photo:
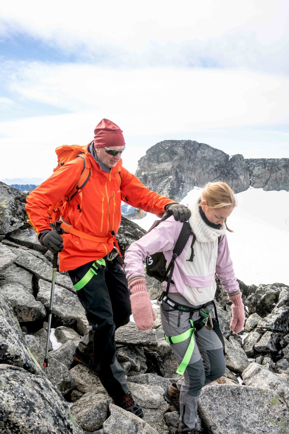
[{"label": "grey boulder field in the foreground around the two hikers", "polygon": [[[164,339],[157,302],[153,302],[156,321],[152,330],[142,332],[130,322],[116,332],[117,358],[128,375],[131,392],[143,406],[143,420],[112,404],[97,376],[73,361],[72,352],[88,330],[88,322],[66,273],[56,273],[53,348],[47,375],[42,371],[52,253],[39,244],[36,233],[25,223],[25,197],[0,183],[0,433],[174,434],[178,415],[162,395],[179,376]],[[123,218],[117,234],[122,251],[143,233]],[[227,369],[218,382],[201,392],[198,432],[286,434],[289,287],[282,283],[246,286],[243,282],[240,287],[246,323],[245,330],[234,334],[229,328],[231,303],[217,280],[216,304]],[[147,288],[155,300],[160,284],[147,277]]]}]

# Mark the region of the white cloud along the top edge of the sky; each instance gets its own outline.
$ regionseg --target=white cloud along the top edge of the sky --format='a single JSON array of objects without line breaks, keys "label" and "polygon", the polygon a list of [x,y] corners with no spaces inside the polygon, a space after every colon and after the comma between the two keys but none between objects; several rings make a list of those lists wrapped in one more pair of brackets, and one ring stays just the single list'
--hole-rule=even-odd
[{"label": "white cloud along the top edge of the sky", "polygon": [[[288,72],[287,2],[95,1],[0,6],[0,34],[24,33],[107,65],[208,65]],[[28,12],[29,10],[29,12]],[[2,29],[2,30],[1,30]]]}]

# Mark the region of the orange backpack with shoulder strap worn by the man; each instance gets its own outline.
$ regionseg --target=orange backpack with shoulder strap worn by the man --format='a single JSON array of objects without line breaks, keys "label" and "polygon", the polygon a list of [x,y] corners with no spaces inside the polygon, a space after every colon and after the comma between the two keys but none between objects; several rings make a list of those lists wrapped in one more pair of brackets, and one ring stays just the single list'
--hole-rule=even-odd
[{"label": "orange backpack with shoulder strap worn by the man", "polygon": [[[83,160],[83,169],[80,175],[80,178],[78,179],[77,183],[73,187],[73,189],[70,191],[70,193],[62,197],[60,201],[56,202],[56,204],[52,205],[48,210],[49,215],[49,222],[54,223],[55,220],[59,220],[63,206],[72,199],[72,197],[75,196],[76,193],[80,195],[80,200],[82,201],[82,191],[81,189],[84,187],[84,185],[87,183],[88,178],[91,174],[91,167],[89,158],[87,155],[84,154],[84,146],[80,145],[62,145],[58,146],[58,148],[55,149],[55,152],[58,156],[58,165],[53,169],[53,172],[58,170],[60,167],[63,166],[63,164],[68,163],[68,161],[73,160],[74,158],[80,157]],[[80,204],[81,207],[81,204]],[[81,214],[81,213],[80,213]]]}]

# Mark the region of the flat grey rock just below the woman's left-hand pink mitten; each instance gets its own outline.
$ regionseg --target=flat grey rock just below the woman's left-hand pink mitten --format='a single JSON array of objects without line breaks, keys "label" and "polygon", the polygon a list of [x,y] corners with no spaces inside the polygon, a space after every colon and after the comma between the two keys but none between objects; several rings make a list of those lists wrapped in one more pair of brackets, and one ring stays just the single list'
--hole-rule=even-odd
[{"label": "flat grey rock just below the woman's left-hand pink mitten", "polygon": [[156,347],[158,344],[154,330],[143,332],[137,329],[135,323],[132,321],[116,330],[115,342],[117,344],[141,345],[145,347]]}]

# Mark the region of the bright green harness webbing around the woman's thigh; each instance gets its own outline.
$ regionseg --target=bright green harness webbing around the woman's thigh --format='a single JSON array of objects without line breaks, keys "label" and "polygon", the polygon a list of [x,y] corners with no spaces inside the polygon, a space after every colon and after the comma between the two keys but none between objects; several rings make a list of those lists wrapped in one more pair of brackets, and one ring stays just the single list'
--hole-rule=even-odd
[{"label": "bright green harness webbing around the woman's thigh", "polygon": [[[203,316],[203,319],[201,321],[198,322],[198,330],[200,330],[204,325],[207,325],[208,322],[208,318],[209,318],[209,313],[210,310],[208,309],[208,307],[206,307],[205,312],[203,312],[202,310],[200,310],[200,314],[201,316]],[[194,327],[194,322],[192,321],[192,319],[190,319],[192,328],[186,330],[184,333],[181,333],[180,335],[176,335],[176,336],[167,336],[165,334],[165,338],[166,338],[166,342],[168,342],[168,344],[179,344],[180,342],[185,341],[186,339],[188,339],[189,337],[191,338],[190,343],[188,344],[188,348],[187,351],[185,352],[184,358],[182,359],[182,362],[180,363],[180,365],[178,366],[177,370],[176,370],[176,374],[179,375],[184,375],[185,369],[188,366],[194,348],[195,348],[195,332],[197,331],[197,329]],[[200,322],[202,324],[200,324]]]}]

